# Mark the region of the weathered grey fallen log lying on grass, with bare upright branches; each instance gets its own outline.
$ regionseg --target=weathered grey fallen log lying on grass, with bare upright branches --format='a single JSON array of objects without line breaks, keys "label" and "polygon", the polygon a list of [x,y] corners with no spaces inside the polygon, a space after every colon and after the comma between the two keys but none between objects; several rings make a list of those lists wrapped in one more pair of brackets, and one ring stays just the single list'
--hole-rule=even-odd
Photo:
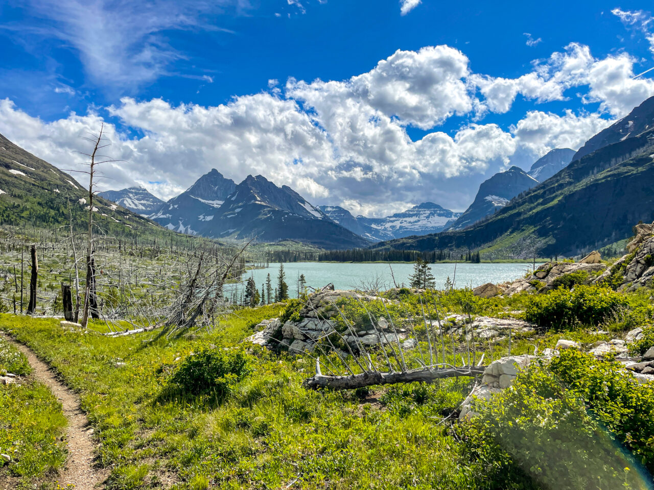
[{"label": "weathered grey fallen log lying on grass, with bare upright branches", "polygon": [[327,387],[332,389],[356,389],[371,385],[388,385],[420,381],[432,383],[443,378],[456,376],[481,376],[485,366],[461,368],[415,369],[406,372],[364,372],[351,376],[322,376],[316,374],[304,380],[305,388]]}]

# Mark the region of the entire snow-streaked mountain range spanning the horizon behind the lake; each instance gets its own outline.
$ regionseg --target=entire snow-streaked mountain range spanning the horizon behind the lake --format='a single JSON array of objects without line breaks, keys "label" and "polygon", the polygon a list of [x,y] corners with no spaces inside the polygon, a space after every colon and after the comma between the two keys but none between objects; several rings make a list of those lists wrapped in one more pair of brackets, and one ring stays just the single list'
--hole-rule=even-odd
[{"label": "entire snow-streaked mountain range spanning the horizon behind the lake", "polygon": [[[166,203],[145,188],[128,188],[99,193],[94,210],[117,235],[161,233],[158,223],[186,235],[321,248],[565,255],[610,244],[627,237],[634,223],[653,220],[653,161],[651,97],[577,152],[557,148],[528,172],[511,167],[493,175],[463,213],[422,203],[385,218],[355,217],[340,206],[314,206],[264,176],[236,184],[216,169]],[[87,197],[69,174],[0,135],[1,222],[61,225],[82,216]]]}]

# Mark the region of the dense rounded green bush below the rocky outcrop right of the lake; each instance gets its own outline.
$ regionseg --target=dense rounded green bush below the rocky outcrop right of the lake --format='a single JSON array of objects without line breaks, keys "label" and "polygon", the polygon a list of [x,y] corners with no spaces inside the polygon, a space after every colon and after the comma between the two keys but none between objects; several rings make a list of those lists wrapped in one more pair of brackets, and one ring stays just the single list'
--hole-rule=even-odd
[{"label": "dense rounded green bush below the rocky outcrop right of the lake", "polygon": [[542,327],[572,329],[597,325],[608,314],[627,306],[627,297],[609,287],[577,286],[574,291],[562,287],[536,295],[525,308],[525,319]]}]

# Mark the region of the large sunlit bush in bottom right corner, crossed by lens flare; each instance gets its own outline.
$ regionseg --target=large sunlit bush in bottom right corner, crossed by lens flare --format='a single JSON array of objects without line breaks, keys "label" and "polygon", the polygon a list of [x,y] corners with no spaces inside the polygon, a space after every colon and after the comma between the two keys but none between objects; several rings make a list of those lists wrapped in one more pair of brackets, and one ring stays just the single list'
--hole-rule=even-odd
[{"label": "large sunlit bush in bottom right corner, crossed by lens flare", "polygon": [[[585,371],[587,361],[574,355],[581,354],[562,352],[559,367],[569,363],[574,372],[570,381],[576,381],[585,393],[585,389],[597,386],[592,381],[595,377]],[[587,374],[591,380],[584,377]],[[628,383],[608,384],[629,390]],[[613,413],[611,403],[624,393],[618,390],[603,398],[600,395],[599,400],[593,400],[595,404],[589,400],[597,412],[588,411],[583,396],[565,389],[547,368],[532,366],[517,377],[511,389],[480,403],[479,416],[458,425],[462,456],[472,460],[479,487],[487,489],[640,488],[638,465],[629,457],[625,465],[624,451],[614,440],[625,426],[616,423],[610,428],[619,432],[607,433],[604,418],[599,417],[600,423],[595,417],[597,413]]]}]

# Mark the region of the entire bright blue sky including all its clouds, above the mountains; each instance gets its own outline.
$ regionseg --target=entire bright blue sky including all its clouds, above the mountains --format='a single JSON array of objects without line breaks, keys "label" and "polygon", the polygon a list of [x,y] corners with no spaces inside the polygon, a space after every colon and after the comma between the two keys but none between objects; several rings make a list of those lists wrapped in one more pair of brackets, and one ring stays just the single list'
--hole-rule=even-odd
[{"label": "entire bright blue sky including all its clouds, above the mountains", "polygon": [[43,0],[0,4],[0,133],[62,168],[109,123],[105,188],[215,167],[314,204],[462,210],[654,95],[645,2]]}]

